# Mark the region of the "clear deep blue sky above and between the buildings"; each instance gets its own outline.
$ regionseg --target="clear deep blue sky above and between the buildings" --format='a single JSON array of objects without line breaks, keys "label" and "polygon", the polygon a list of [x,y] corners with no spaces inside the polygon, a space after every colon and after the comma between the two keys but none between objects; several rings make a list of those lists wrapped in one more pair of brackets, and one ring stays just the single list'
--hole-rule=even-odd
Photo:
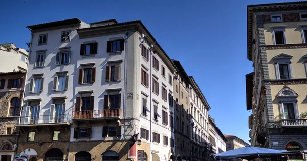
[{"label": "clear deep blue sky above and between the buildings", "polygon": [[247,59],[247,5],[275,2],[286,1],[2,1],[0,43],[28,49],[26,26],[62,19],[140,19],[196,79],[221,131],[249,143],[245,75],[253,68]]}]

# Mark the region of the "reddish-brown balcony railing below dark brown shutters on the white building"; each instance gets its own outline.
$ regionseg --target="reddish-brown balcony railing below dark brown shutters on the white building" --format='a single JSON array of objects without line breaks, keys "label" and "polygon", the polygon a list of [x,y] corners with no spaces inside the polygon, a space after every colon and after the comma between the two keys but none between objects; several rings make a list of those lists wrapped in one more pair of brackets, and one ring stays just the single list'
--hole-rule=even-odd
[{"label": "reddish-brown balcony railing below dark brown shutters on the white building", "polygon": [[73,119],[121,117],[122,109],[73,111]]}]

